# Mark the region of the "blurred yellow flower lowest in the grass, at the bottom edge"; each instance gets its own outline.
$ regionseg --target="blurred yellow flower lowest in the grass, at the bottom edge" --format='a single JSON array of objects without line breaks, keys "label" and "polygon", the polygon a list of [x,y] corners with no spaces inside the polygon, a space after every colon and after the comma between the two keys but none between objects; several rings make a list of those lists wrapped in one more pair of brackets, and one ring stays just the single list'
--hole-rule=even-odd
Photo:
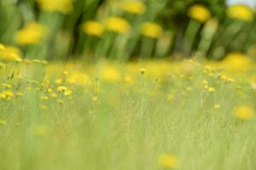
[{"label": "blurred yellow flower lowest in the grass, at the bottom edge", "polygon": [[159,164],[166,168],[177,167],[177,157],[171,154],[163,154],[159,157]]}]

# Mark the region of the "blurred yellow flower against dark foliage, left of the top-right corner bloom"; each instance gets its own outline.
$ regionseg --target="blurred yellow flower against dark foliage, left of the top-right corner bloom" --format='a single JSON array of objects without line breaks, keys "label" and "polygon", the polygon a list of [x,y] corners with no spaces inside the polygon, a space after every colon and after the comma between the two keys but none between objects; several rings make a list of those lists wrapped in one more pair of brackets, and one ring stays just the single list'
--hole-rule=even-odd
[{"label": "blurred yellow flower against dark foliage, left of the top-right corner bloom", "polygon": [[201,4],[195,4],[189,8],[188,15],[194,20],[205,23],[211,18],[211,12],[208,8]]}]

